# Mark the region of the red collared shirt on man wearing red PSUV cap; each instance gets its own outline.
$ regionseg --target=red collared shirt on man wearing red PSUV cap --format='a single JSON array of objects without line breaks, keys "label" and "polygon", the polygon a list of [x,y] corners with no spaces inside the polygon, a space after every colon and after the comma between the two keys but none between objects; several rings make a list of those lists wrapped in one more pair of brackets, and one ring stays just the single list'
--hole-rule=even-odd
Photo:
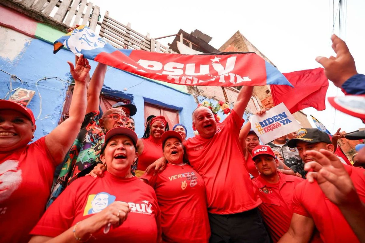
[{"label": "red collared shirt on man wearing red PSUV cap", "polygon": [[304,181],[297,176],[278,173],[280,180],[276,184],[268,183],[261,175],[253,179],[262,204],[258,206],[269,233],[277,242],[289,229],[293,216],[293,194],[297,184]]}]

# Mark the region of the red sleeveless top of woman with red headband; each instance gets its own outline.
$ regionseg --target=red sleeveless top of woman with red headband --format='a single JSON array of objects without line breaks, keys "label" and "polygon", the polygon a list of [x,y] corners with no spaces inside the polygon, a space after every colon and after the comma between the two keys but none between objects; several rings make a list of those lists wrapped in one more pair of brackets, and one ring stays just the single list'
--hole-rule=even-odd
[{"label": "red sleeveless top of woman with red headband", "polygon": [[142,138],[143,152],[138,156],[137,170],[145,171],[147,167],[157,159],[164,156],[162,154],[161,140],[156,140],[152,136]]}]

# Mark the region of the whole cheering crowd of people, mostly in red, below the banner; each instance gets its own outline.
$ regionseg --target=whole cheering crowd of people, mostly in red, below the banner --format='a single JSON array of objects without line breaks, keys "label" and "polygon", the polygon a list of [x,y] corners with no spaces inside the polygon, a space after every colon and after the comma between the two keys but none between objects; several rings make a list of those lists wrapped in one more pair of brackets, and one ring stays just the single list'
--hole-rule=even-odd
[{"label": "whole cheering crowd of people, mostly in red, below the banner", "polygon": [[[337,57],[317,59],[328,79],[364,94],[345,42],[332,41]],[[197,107],[196,136],[150,115],[138,138],[134,105],[100,113],[107,66],[90,77],[82,55],[68,63],[70,116],[45,137],[32,142],[30,109],[0,101],[1,242],[365,242],[364,146],[351,166],[334,154],[341,136],[314,128],[260,144],[242,118],[252,86],[221,123]]]}]

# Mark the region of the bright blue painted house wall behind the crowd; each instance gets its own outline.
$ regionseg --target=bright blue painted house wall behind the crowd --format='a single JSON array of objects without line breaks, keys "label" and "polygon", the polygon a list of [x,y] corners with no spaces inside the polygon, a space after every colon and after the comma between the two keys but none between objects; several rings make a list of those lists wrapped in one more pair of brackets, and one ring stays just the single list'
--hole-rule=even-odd
[{"label": "bright blue painted house wall behind the crowd", "polygon": [[[23,81],[12,81],[12,89],[22,87],[36,91],[28,105],[35,117],[39,116],[36,121],[36,139],[45,136],[58,125],[69,83],[56,79],[39,81],[37,87],[40,95],[37,93],[35,83],[45,77],[59,77],[67,80],[69,78],[69,66],[66,61],[68,60],[74,62],[74,55],[70,51],[62,49],[53,55],[53,45],[38,39],[32,39],[30,43],[25,44],[24,49],[13,62],[0,57],[0,69],[16,75]],[[97,63],[90,61],[90,64],[92,73]],[[1,99],[4,99],[9,92],[9,84],[9,75],[0,72]],[[124,88],[127,90],[124,91]],[[136,133],[140,137],[144,133],[145,101],[178,110],[180,122],[187,127],[189,136],[193,135],[191,114],[197,105],[189,94],[153,81],[144,80],[116,68],[108,69],[102,91],[111,96],[129,99],[131,103],[137,106],[137,114],[134,115],[134,118]]]}]

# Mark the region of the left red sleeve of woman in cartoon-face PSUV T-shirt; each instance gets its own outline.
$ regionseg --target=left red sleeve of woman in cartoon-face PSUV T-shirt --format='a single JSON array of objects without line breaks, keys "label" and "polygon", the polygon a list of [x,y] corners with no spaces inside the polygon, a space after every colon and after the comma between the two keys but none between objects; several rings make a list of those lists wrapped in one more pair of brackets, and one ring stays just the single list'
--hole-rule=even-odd
[{"label": "left red sleeve of woman in cartoon-face PSUV T-shirt", "polygon": [[[77,184],[77,183],[76,183]],[[72,226],[74,220],[74,207],[76,193],[72,188],[76,185],[72,184],[59,195],[57,200],[43,214],[41,220],[30,232],[31,235],[43,235],[56,237]]]}]

